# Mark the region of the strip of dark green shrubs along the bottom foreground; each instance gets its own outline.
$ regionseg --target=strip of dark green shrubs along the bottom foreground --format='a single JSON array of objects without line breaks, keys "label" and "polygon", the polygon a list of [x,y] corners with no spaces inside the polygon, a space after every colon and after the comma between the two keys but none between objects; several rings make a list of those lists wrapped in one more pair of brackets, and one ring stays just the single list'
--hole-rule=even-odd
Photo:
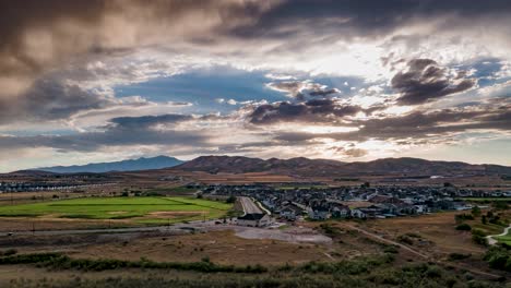
[{"label": "strip of dark green shrubs along the bottom foreground", "polygon": [[[211,262],[170,263],[118,260],[73,260],[56,253],[15,255],[0,259],[0,264],[35,264],[51,269],[112,271],[130,268],[129,276],[93,277],[87,274],[62,279],[29,283],[11,281],[11,287],[504,287],[502,283],[484,283],[468,274],[452,273],[432,263],[389,265],[394,255],[357,257],[340,262],[308,262],[282,266],[233,266]],[[166,273],[136,277],[132,269],[188,271],[167,276]],[[419,285],[418,285],[419,284]],[[36,286],[37,285],[37,286]]]}]

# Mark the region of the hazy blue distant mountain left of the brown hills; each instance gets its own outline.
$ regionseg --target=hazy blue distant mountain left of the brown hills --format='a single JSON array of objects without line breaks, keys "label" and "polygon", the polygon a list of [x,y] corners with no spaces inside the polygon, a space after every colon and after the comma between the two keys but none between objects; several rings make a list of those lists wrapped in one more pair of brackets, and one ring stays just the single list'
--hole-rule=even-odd
[{"label": "hazy blue distant mountain left of the brown hills", "polygon": [[79,172],[110,172],[110,171],[135,171],[135,170],[150,170],[169,168],[182,164],[174,157],[156,156],[152,158],[138,158],[112,163],[94,163],[87,165],[73,165],[73,166],[54,166],[36,168],[36,170],[48,171],[55,173],[79,173]]}]

